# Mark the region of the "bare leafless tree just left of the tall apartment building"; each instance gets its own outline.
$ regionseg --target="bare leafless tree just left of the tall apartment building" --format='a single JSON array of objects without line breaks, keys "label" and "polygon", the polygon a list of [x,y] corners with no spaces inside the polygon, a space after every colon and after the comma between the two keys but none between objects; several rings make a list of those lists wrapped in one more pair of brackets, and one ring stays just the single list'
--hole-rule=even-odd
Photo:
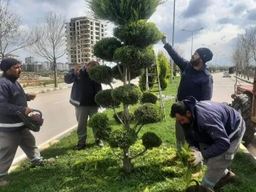
[{"label": "bare leafless tree just left of the tall apartment building", "polygon": [[57,60],[65,52],[65,17],[58,16],[54,11],[46,15],[46,23],[38,25],[33,30],[32,39],[39,38],[29,49],[43,58],[46,58],[54,67],[54,86],[58,87]]}]

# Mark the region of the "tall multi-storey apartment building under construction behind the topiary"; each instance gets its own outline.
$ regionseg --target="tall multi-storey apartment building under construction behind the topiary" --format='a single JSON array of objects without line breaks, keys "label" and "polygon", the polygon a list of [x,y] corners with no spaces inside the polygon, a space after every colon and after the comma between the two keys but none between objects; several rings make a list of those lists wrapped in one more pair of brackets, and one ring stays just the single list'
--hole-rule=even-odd
[{"label": "tall multi-storey apartment building under construction behind the topiary", "polygon": [[66,23],[68,63],[72,68],[76,63],[87,64],[96,60],[93,46],[107,35],[107,24],[95,18],[71,18]]}]

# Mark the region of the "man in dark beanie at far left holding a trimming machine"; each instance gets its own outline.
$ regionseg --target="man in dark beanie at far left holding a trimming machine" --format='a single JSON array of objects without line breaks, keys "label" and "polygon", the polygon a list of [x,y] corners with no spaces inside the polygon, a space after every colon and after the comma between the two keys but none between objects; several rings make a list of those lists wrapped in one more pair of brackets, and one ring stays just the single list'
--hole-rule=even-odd
[{"label": "man in dark beanie at far left holding a trimming machine", "polygon": [[0,77],[0,186],[6,186],[9,182],[4,176],[14,161],[18,146],[33,166],[42,166],[45,161],[38,151],[35,137],[16,114],[31,113],[27,101],[36,97],[35,94],[25,94],[17,82],[21,75],[21,63],[14,58],[5,58],[1,61],[0,68],[4,71]]}]

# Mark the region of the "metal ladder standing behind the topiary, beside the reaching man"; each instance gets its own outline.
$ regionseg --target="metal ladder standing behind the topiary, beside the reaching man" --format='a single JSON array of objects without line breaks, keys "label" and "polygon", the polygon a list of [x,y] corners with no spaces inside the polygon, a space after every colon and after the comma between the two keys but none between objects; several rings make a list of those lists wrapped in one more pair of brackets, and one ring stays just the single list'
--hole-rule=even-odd
[{"label": "metal ladder standing behind the topiary, beside the reaching man", "polygon": [[[149,68],[154,69],[156,71],[156,73],[149,73]],[[149,92],[159,92],[159,99],[160,99],[160,104],[161,104],[161,110],[163,111],[163,114],[164,114],[164,121],[166,121],[166,114],[165,114],[165,110],[164,110],[163,97],[162,97],[162,94],[161,94],[161,86],[160,86],[160,81],[159,81],[159,73],[158,73],[157,65],[153,64],[149,68],[146,68],[146,91],[149,91]],[[149,77],[150,76],[151,77],[156,76],[156,82],[149,82]],[[158,84],[159,89],[158,90],[154,90],[154,91],[149,90],[149,85],[152,85],[152,84]]]}]

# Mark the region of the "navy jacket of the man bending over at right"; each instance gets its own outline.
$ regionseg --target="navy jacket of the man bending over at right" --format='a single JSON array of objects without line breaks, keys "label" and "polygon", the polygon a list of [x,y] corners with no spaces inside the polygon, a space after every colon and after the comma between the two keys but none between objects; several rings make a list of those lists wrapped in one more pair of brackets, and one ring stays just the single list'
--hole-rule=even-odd
[{"label": "navy jacket of the man bending over at right", "polygon": [[242,129],[238,127],[242,117],[232,107],[212,101],[198,102],[194,97],[183,102],[193,117],[193,124],[183,127],[185,139],[198,149],[199,143],[209,145],[201,151],[204,159],[223,154],[230,148],[230,142],[241,136]]}]

